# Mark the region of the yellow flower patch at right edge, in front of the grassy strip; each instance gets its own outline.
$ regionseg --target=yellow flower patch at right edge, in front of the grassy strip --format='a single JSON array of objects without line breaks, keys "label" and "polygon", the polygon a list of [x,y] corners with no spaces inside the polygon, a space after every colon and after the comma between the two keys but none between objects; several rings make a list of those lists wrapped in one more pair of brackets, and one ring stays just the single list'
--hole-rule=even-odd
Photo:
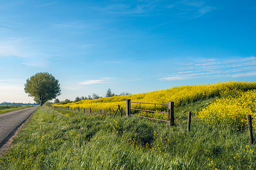
[{"label": "yellow flower patch at right edge, in front of the grassy strip", "polygon": [[[224,91],[224,94],[231,94],[216,101],[208,103],[206,108],[198,112],[198,116],[211,125],[223,126],[247,126],[246,115],[252,117],[252,125],[256,127],[256,90],[243,92]],[[236,95],[232,95],[236,93]]]}]

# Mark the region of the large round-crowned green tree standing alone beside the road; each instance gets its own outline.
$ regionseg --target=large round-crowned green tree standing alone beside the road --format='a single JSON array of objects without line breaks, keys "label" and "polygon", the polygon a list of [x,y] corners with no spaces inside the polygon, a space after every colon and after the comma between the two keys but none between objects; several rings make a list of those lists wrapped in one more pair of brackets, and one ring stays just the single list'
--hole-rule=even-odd
[{"label": "large round-crowned green tree standing alone beside the road", "polygon": [[[26,80],[25,93],[40,101],[42,106],[46,101],[56,98],[60,93],[60,84],[54,76],[47,72],[36,73]],[[35,100],[35,101],[36,101]]]}]

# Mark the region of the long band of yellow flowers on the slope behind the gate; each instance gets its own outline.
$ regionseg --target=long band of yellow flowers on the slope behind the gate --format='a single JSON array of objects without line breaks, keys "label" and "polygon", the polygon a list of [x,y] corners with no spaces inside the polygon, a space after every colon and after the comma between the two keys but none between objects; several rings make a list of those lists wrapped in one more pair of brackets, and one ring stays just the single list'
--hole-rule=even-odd
[{"label": "long band of yellow flowers on the slope behind the gate", "polygon": [[[53,106],[63,106],[63,107],[72,107],[80,109],[91,108],[93,112],[102,110],[107,112],[108,108],[111,111],[117,109],[117,105],[123,107],[123,112],[125,112],[125,100],[131,99],[131,102],[145,102],[145,103],[167,103],[168,101],[174,101],[175,108],[178,108],[187,103],[209,99],[213,97],[220,97],[224,94],[225,91],[234,91],[241,90],[247,91],[251,89],[256,89],[255,82],[241,82],[241,81],[228,81],[228,82],[219,82],[215,84],[205,84],[205,85],[184,85],[172,87],[165,90],[153,91],[149,93],[141,93],[134,95],[125,95],[125,96],[114,96],[106,97],[94,100],[82,100],[79,102],[67,103],[67,104],[53,104]],[[131,103],[132,108],[139,108],[138,103]],[[141,108],[145,110],[154,110],[154,104],[141,104]],[[159,111],[166,112],[166,105],[156,105],[156,109]],[[125,114],[125,113],[124,113]],[[145,115],[145,112],[142,112],[140,115]],[[159,113],[160,114],[160,113]],[[149,117],[156,118],[156,113],[148,113]],[[159,115],[160,117],[165,117],[164,115]],[[159,118],[159,116],[157,116]]]}]

